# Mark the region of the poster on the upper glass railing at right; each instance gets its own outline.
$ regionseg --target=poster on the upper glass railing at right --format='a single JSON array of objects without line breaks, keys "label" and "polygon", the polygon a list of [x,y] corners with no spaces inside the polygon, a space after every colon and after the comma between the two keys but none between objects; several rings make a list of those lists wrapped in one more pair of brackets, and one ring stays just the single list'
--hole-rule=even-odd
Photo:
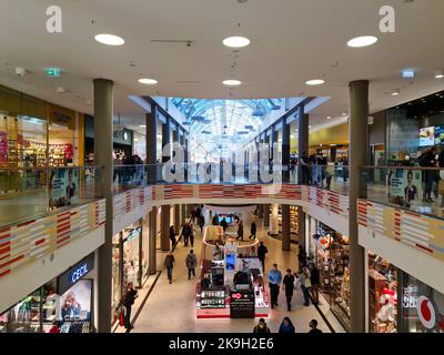
[{"label": "poster on the upper glass railing at right", "polygon": [[389,171],[389,201],[413,206],[423,199],[422,172],[420,170],[394,169]]}]

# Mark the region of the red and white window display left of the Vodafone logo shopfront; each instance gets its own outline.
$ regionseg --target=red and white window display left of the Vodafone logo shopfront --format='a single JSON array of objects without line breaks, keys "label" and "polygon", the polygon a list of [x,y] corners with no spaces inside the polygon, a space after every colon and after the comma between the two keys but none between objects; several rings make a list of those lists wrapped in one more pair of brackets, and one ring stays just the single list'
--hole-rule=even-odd
[{"label": "red and white window display left of the Vodafone logo shopfront", "polygon": [[397,270],[369,252],[369,331],[397,332]]}]

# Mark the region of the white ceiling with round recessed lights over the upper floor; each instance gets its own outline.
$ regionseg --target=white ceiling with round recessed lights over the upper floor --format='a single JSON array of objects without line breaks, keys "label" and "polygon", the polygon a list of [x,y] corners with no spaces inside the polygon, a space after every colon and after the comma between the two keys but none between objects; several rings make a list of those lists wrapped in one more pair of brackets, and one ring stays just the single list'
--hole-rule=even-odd
[{"label": "white ceiling with round recessed lights over the upper floor", "polygon": [[[46,31],[46,9],[58,4],[63,32]],[[381,33],[379,10],[392,4],[396,32]],[[434,71],[444,69],[444,1],[415,0],[0,0],[0,83],[41,99],[92,113],[92,79],[115,82],[115,113],[125,125],[142,123],[143,111],[129,95],[189,98],[332,97],[313,113],[313,124],[347,111],[347,83],[371,81],[371,111],[444,89]],[[97,43],[98,33],[125,39],[118,48]],[[370,48],[350,49],[349,39],[374,34]],[[251,44],[235,54],[222,39],[245,36]],[[190,40],[155,43],[151,40]],[[131,67],[130,62],[135,67]],[[232,69],[233,63],[235,68]],[[62,78],[48,79],[47,67]],[[30,71],[24,78],[14,68]],[[406,68],[417,70],[410,82]],[[159,80],[157,87],[139,78]],[[243,81],[236,89],[222,80]],[[309,79],[326,84],[306,87]],[[190,82],[191,81],[191,82]],[[57,87],[68,92],[58,94]],[[390,92],[401,90],[396,98]]]}]

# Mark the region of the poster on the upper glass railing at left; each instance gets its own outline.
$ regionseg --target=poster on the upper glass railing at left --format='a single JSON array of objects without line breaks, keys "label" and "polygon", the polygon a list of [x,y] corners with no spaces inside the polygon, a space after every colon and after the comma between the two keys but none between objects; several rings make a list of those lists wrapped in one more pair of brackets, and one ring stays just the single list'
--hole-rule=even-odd
[{"label": "poster on the upper glass railing at left", "polygon": [[79,196],[79,170],[52,169],[50,172],[49,206],[62,207]]}]

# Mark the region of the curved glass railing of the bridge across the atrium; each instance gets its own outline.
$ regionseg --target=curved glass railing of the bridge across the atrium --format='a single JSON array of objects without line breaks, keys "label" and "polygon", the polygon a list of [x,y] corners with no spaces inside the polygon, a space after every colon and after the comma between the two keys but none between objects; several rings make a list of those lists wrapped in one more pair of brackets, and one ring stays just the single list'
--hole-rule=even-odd
[{"label": "curved glass railing of the bridge across the atrium", "polygon": [[149,164],[114,165],[114,193],[139,186],[169,183],[190,184],[307,184],[347,193],[346,165],[236,165],[236,164]]}]

